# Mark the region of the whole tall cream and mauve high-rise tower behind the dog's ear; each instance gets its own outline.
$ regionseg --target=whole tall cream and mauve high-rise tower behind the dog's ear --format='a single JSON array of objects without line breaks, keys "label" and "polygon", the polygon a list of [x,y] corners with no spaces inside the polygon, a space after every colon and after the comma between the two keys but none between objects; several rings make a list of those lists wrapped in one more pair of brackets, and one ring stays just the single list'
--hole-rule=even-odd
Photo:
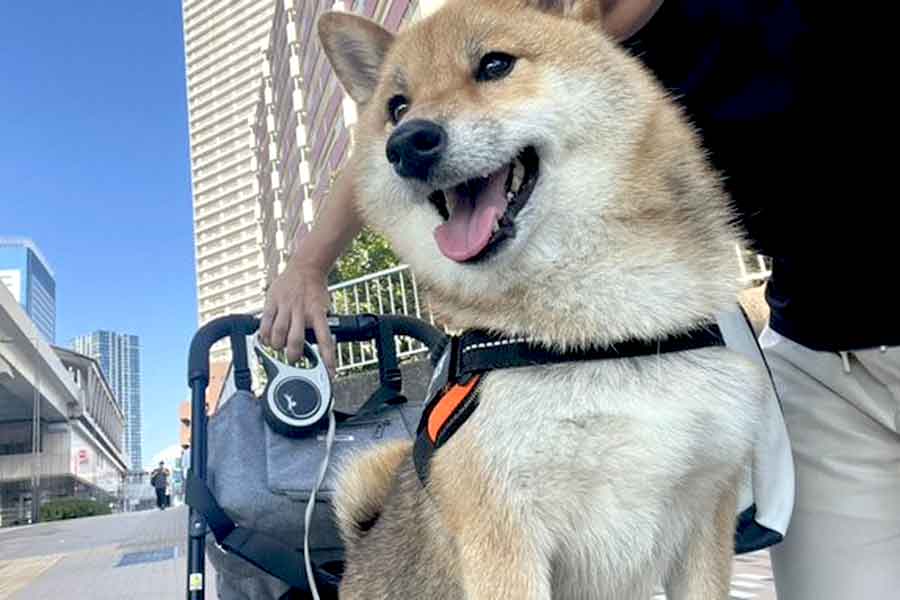
[{"label": "whole tall cream and mauve high-rise tower behind the dog's ear", "polygon": [[[326,10],[391,30],[439,0],[183,0],[199,321],[262,309],[352,143]],[[214,350],[213,361],[227,358]]]}]

